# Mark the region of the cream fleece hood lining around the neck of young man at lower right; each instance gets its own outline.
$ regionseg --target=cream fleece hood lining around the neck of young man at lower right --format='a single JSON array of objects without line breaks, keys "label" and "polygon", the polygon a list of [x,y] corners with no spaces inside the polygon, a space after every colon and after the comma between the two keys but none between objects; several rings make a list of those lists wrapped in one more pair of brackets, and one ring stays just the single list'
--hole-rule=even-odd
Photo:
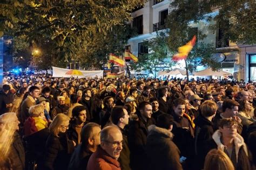
[{"label": "cream fleece hood lining around the neck of young man at lower right", "polygon": [[[218,145],[218,149],[221,151],[224,151],[224,145],[221,143],[220,138],[221,138],[221,132],[219,130],[215,131],[212,135],[213,140],[215,141],[215,143]],[[237,133],[237,137],[234,138],[234,145],[235,145],[235,155],[237,155],[237,159],[238,159],[238,152],[240,150],[241,147],[244,148],[244,151],[248,157],[248,151],[247,151],[247,147],[244,141],[244,138],[242,138],[240,136],[240,134]]]}]

